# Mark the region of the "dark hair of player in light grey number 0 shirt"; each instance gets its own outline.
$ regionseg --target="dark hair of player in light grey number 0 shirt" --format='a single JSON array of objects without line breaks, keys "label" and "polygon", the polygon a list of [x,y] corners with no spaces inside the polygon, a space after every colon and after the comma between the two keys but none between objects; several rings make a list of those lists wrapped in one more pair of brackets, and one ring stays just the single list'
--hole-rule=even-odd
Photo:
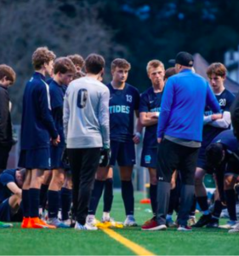
[{"label": "dark hair of player in light grey number 0 shirt", "polygon": [[85,60],[86,73],[98,74],[105,67],[105,59],[101,55],[91,54]]}]

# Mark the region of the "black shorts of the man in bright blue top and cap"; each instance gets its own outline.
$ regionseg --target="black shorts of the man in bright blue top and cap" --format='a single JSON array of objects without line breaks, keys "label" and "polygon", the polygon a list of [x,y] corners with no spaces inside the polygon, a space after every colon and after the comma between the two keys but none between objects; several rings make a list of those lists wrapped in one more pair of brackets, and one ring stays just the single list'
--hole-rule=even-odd
[{"label": "black shorts of the man in bright blue top and cap", "polygon": [[182,183],[193,185],[195,180],[198,148],[185,147],[162,139],[157,150],[158,181],[171,182],[175,170],[180,170]]}]

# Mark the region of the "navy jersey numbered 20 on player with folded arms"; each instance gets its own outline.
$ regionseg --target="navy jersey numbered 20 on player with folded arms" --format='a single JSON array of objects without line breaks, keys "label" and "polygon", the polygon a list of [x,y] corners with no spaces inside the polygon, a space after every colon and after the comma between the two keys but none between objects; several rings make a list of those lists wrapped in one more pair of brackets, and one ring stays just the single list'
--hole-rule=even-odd
[{"label": "navy jersey numbered 20 on player with folded arms", "polygon": [[[224,90],[220,95],[215,95],[219,106],[221,109],[221,113],[224,113],[225,111],[230,111],[230,105],[232,104],[235,96],[233,96],[232,93],[230,93],[229,90]],[[210,108],[206,107],[204,115],[212,115],[213,112],[210,110]],[[209,143],[213,140],[214,137],[216,137],[220,132],[225,131],[225,128],[220,127],[214,127],[210,124],[203,126],[203,132],[202,132],[202,148],[207,147]]]}]

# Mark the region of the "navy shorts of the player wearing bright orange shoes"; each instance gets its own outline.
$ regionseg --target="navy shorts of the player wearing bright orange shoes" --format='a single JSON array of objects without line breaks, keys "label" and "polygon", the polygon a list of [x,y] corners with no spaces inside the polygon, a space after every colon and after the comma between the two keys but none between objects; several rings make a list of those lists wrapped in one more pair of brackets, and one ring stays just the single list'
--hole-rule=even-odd
[{"label": "navy shorts of the player wearing bright orange shoes", "polygon": [[18,166],[26,169],[50,169],[50,148],[21,150]]}]

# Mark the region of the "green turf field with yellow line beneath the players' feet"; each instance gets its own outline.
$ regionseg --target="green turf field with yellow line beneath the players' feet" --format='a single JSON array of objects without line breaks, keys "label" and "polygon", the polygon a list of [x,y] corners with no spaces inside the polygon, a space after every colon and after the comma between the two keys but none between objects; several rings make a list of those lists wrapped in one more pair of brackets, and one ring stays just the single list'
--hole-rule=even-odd
[{"label": "green turf field with yellow line beneath the players' feet", "polygon": [[[135,217],[138,224],[151,218],[150,205],[141,205],[142,194],[135,195]],[[112,217],[124,220],[124,210],[119,192],[115,193]],[[102,206],[98,210],[101,218]],[[222,224],[225,223],[221,221]],[[239,233],[227,230],[179,232],[176,229],[144,232],[139,227],[115,229],[117,234],[144,247],[156,255],[236,255],[239,252]],[[113,234],[114,236],[114,234]],[[128,242],[128,241],[127,241]],[[127,243],[126,242],[126,243]],[[103,230],[0,230],[1,255],[134,255],[135,252],[111,238]],[[144,254],[139,247],[139,254]],[[140,253],[141,252],[141,253]],[[143,252],[143,253],[142,253]]]}]

